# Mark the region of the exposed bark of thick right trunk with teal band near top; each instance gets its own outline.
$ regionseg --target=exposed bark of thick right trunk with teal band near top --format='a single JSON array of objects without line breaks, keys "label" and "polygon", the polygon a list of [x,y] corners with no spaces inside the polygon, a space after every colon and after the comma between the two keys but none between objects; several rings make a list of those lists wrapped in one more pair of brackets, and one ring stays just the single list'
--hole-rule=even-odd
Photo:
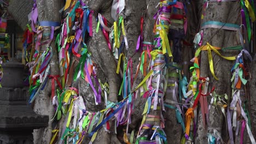
[{"label": "exposed bark of thick right trunk with teal band near top", "polygon": [[[206,21],[220,21],[226,23],[234,23],[239,25],[240,23],[240,5],[238,2],[225,2],[217,3],[210,2],[208,3],[208,8],[205,11],[205,17],[203,22]],[[207,42],[212,46],[217,47],[228,47],[237,45],[237,39],[235,31],[227,31],[224,29],[218,28],[206,28],[203,29],[203,45]],[[239,43],[238,43],[239,44]],[[238,51],[226,51],[220,52],[223,56],[234,56],[238,54]],[[215,80],[210,73],[210,68],[208,64],[207,51],[201,52],[201,68],[200,68],[200,77],[210,76],[211,87],[215,87],[215,92],[217,94],[228,94],[229,100],[231,98],[231,73],[226,73],[232,68],[234,62],[228,61],[222,57],[219,57],[216,53],[212,51],[213,57],[213,67],[214,73],[219,80]],[[208,98],[208,103],[210,102]],[[199,112],[201,117],[201,112]],[[211,106],[209,111],[209,120],[208,120],[208,133],[213,134],[213,129],[217,129],[220,134],[225,135],[226,129],[223,129],[223,123],[225,123],[222,111],[217,110],[216,107]],[[199,118],[199,125],[196,135],[196,143],[207,143],[207,130],[202,127],[201,118]],[[223,137],[226,138],[226,137]]]}]

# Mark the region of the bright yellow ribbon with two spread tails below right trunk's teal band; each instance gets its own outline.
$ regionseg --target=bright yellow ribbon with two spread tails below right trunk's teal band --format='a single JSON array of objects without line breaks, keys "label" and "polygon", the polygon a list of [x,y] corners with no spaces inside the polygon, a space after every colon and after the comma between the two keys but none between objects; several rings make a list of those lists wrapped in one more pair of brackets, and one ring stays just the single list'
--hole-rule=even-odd
[{"label": "bright yellow ribbon with two spread tails below right trunk's teal band", "polygon": [[[202,46],[202,47],[201,47],[201,50],[205,50],[204,47],[205,47],[205,46]],[[210,45],[209,43],[206,44],[206,47],[207,47],[208,60],[209,60],[209,64],[210,64],[211,73],[212,73],[214,79],[219,80],[219,79],[216,77],[216,75],[214,74],[213,60],[212,60],[212,52],[211,52],[211,50],[213,50],[215,53],[217,53],[217,55],[219,55],[220,57],[225,58],[225,59],[227,59],[227,60],[229,60],[229,61],[235,60],[236,57],[225,57],[225,56],[220,55],[220,53],[219,53],[219,51],[216,49],[216,47]]]}]

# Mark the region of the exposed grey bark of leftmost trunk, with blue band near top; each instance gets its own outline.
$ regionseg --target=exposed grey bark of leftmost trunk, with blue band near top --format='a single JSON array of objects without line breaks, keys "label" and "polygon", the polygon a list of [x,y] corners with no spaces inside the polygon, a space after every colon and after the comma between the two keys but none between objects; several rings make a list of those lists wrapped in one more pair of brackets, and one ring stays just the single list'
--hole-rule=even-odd
[{"label": "exposed grey bark of leftmost trunk, with blue band near top", "polygon": [[[37,1],[37,8],[38,8],[38,21],[53,21],[53,22],[60,22],[60,13],[59,10],[61,9],[61,1]],[[43,30],[43,37],[42,42],[49,40],[49,35],[44,36],[44,34],[51,33],[50,28],[44,27]],[[56,63],[58,61],[56,48],[54,44],[54,40],[50,44],[45,44],[40,47],[40,52],[46,50],[47,47],[51,46],[53,49],[53,57],[50,60],[50,75],[59,75],[59,64]],[[55,81],[55,93],[56,88],[58,87]],[[34,103],[34,111],[40,115],[48,115],[49,116],[49,124],[46,128],[41,128],[38,130],[34,130],[34,143],[50,143],[51,140],[51,131],[53,130],[52,121],[50,120],[54,116],[54,107],[53,102],[51,100],[51,80],[47,81],[46,87],[43,91],[41,91],[38,95],[38,98],[35,100]]]}]

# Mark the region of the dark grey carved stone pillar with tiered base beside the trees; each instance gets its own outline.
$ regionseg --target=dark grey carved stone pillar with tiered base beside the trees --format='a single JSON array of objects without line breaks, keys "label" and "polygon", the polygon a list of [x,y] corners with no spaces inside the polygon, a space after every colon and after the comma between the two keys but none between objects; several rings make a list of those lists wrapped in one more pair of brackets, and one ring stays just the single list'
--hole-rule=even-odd
[{"label": "dark grey carved stone pillar with tiered base beside the trees", "polygon": [[37,115],[27,106],[24,65],[12,59],[4,63],[0,88],[0,144],[33,143],[33,129],[47,127],[49,117]]}]

